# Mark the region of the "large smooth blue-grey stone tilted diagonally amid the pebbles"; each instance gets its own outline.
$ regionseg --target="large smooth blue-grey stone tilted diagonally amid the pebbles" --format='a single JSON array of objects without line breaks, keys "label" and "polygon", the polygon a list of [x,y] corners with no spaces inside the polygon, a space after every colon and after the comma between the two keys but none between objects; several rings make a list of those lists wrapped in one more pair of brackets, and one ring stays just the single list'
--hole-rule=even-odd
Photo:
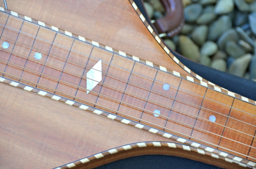
[{"label": "large smooth blue-grey stone tilted diagonally amid the pebbles", "polygon": [[223,15],[210,25],[207,39],[215,41],[221,33],[230,29],[231,27],[231,19],[227,15]]}]

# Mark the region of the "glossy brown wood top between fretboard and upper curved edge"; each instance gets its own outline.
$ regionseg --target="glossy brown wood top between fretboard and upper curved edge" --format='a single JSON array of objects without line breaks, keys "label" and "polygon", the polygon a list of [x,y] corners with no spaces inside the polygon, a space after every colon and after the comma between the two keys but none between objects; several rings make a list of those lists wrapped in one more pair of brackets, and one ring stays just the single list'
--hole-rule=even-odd
[{"label": "glossy brown wood top between fretboard and upper curved edge", "polygon": [[129,1],[7,0],[7,4],[9,10],[186,74],[148,32]]}]

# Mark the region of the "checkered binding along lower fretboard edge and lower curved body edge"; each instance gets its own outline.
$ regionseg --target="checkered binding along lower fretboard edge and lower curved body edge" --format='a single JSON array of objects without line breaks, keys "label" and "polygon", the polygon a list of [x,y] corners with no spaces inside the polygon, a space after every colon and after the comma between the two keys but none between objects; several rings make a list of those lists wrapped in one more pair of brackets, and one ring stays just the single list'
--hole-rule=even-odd
[{"label": "checkered binding along lower fretboard edge and lower curved body edge", "polygon": [[[249,161],[249,160],[246,160],[246,159],[243,159],[243,158],[240,158],[240,157],[236,157],[234,155],[231,155],[231,154],[213,149],[211,147],[207,147],[205,145],[192,142],[188,139],[184,139],[184,138],[166,133],[164,131],[157,130],[157,129],[154,129],[152,127],[142,125],[140,123],[125,119],[123,117],[119,117],[119,116],[110,114],[108,112],[103,112],[101,110],[83,105],[81,103],[78,103],[78,102],[75,102],[75,101],[72,101],[72,100],[69,100],[69,99],[65,99],[63,97],[60,97],[60,96],[57,96],[57,95],[54,95],[54,94],[51,94],[51,93],[48,93],[48,92],[44,92],[42,90],[38,90],[36,88],[30,87],[30,86],[27,86],[27,85],[23,85],[21,83],[17,83],[17,82],[14,82],[12,80],[9,80],[9,79],[5,79],[3,77],[0,77],[0,82],[2,82],[4,84],[11,85],[11,86],[14,86],[14,87],[17,87],[19,89],[23,89],[23,90],[26,90],[26,91],[29,91],[29,92],[33,92],[33,93],[41,95],[41,96],[45,96],[47,98],[51,98],[53,100],[63,102],[67,105],[74,106],[74,107],[89,111],[93,114],[98,114],[100,116],[106,117],[106,118],[111,119],[111,120],[115,120],[115,121],[119,121],[119,122],[124,123],[124,124],[128,124],[129,126],[136,127],[138,129],[142,129],[142,130],[148,131],[150,133],[154,133],[154,134],[169,138],[170,142],[176,141],[176,142],[182,143],[182,144],[162,143],[162,142],[135,143],[135,144],[126,145],[126,146],[118,147],[118,148],[115,148],[115,149],[111,149],[111,150],[108,150],[108,151],[104,151],[104,152],[101,152],[99,154],[95,154],[93,156],[75,161],[73,163],[61,166],[60,167],[61,169],[71,168],[71,167],[74,167],[76,165],[81,165],[81,164],[84,164],[86,162],[89,162],[93,159],[102,158],[106,155],[110,155],[110,154],[113,154],[113,153],[116,153],[116,152],[119,152],[119,151],[129,150],[129,149],[134,148],[134,146],[136,147],[136,145],[137,145],[137,147],[138,146],[140,147],[141,145],[144,145],[144,146],[167,146],[168,145],[168,147],[170,147],[170,148],[180,148],[180,149],[187,150],[187,151],[195,151],[195,152],[198,152],[200,154],[208,155],[208,156],[211,156],[213,158],[219,158],[219,159],[228,161],[230,163],[235,163],[235,164],[238,164],[238,165],[241,165],[241,166],[244,166],[244,167],[248,167],[248,168],[254,168],[256,166],[256,163],[254,163],[252,161]],[[121,148],[123,148],[123,149],[121,149]]]}]

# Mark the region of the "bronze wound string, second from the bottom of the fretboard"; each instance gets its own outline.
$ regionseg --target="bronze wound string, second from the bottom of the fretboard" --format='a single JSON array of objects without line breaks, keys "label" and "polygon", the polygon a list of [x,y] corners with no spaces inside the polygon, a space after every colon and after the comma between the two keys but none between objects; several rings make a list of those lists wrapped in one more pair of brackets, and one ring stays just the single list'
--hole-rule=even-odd
[{"label": "bronze wound string, second from the bottom of the fretboard", "polygon": [[[1,60],[1,59],[0,59],[0,60]],[[3,60],[1,60],[1,61],[3,61]],[[6,62],[6,61],[5,61],[5,62]],[[18,67],[22,67],[22,66],[19,66],[19,65],[14,64],[14,63],[10,63],[10,64],[13,64],[13,65],[18,66]],[[24,69],[30,70],[30,69],[28,69],[28,68],[24,68]],[[34,70],[30,70],[30,71],[35,72],[35,73],[39,73],[39,72],[36,72],[36,71],[34,71]],[[57,81],[63,82],[63,83],[67,83],[68,85],[73,85],[73,86],[75,86],[75,87],[79,87],[79,88],[81,88],[81,89],[83,89],[83,90],[90,91],[90,90],[85,89],[85,88],[83,88],[83,87],[80,87],[80,86],[77,86],[77,85],[74,85],[74,84],[71,84],[71,83],[65,82],[65,81],[63,81],[63,80],[59,80],[59,79],[57,79],[57,78],[54,78],[54,77],[51,77],[51,76],[45,75],[45,74],[43,74],[43,73],[39,73],[39,74],[41,74],[41,75],[43,75],[43,76],[46,76],[46,77],[49,77],[49,78],[52,78],[52,79],[54,79],[54,80],[57,80]],[[20,79],[23,79],[23,78],[20,78]],[[27,81],[28,81],[28,80],[27,80]],[[55,90],[56,90],[56,89],[55,89]],[[55,90],[54,90],[54,91],[55,91]],[[111,98],[111,97],[109,97],[109,96],[106,96],[106,95],[103,95],[103,94],[100,94],[100,93],[97,93],[97,92],[94,92],[94,91],[90,91],[90,92],[93,92],[93,93],[95,93],[95,94],[98,94],[98,95],[104,96],[104,97],[106,97],[106,98],[108,98],[108,99],[112,99],[112,100],[115,100],[115,101],[120,101],[120,100],[117,100],[117,99]],[[152,112],[152,111],[146,110],[145,108],[137,107],[137,106],[134,106],[134,105],[132,105],[132,104],[129,104],[129,103],[126,103],[126,102],[123,102],[123,101],[120,101],[120,102],[121,102],[121,103],[124,103],[124,104],[127,104],[127,105],[129,105],[129,106],[132,106],[132,107],[135,107],[135,108],[141,109],[141,110],[143,110],[143,111],[147,111],[147,112],[149,112],[149,113],[156,114],[156,113],[154,113],[154,112]],[[96,103],[94,103],[94,105],[96,105]],[[171,108],[172,108],[172,107],[171,107]],[[173,108],[173,109],[174,109],[174,108]],[[176,109],[176,110],[178,110],[178,109]],[[180,111],[180,110],[178,110],[178,111]],[[184,113],[185,113],[185,112],[184,112]],[[188,114],[188,113],[187,113],[187,114]],[[164,115],[161,115],[161,114],[157,114],[157,115],[159,115],[159,116],[161,116],[161,117],[164,117],[164,118],[166,118],[166,119],[172,120],[172,121],[179,122],[179,123],[184,124],[184,125],[187,125],[187,126],[189,126],[189,127],[192,127],[192,128],[195,128],[195,129],[199,129],[199,130],[202,130],[202,131],[204,131],[204,132],[211,133],[211,134],[216,135],[216,136],[220,136],[221,138],[223,137],[223,138],[226,138],[226,139],[228,139],[228,140],[230,140],[230,141],[234,141],[234,142],[236,142],[236,143],[240,143],[240,142],[237,142],[237,141],[235,141],[235,140],[229,139],[229,138],[227,138],[227,137],[224,137],[224,136],[221,136],[221,135],[218,135],[218,134],[215,134],[215,133],[209,132],[209,131],[207,131],[207,130],[200,129],[200,128],[198,128],[198,127],[195,127],[195,126],[192,126],[192,125],[186,124],[186,123],[181,122],[181,121],[178,121],[178,120],[174,120],[174,119],[169,118],[169,117],[167,117],[167,116],[164,116]],[[204,119],[204,120],[205,120],[205,119]],[[207,120],[207,121],[209,121],[209,120]],[[218,123],[215,123],[215,124],[218,124]],[[218,125],[221,125],[221,124],[218,124]],[[223,126],[223,125],[221,125],[221,126]],[[223,127],[227,127],[227,126],[223,126]],[[227,128],[229,128],[229,127],[227,127]],[[231,129],[231,128],[230,128],[230,129]],[[235,130],[235,129],[233,129],[233,130]],[[239,132],[239,133],[246,134],[246,133],[241,132],[241,131],[238,131],[238,130],[235,130],[235,131],[237,131],[237,132]],[[246,134],[246,135],[251,136],[251,135],[249,135],[249,134]],[[255,137],[255,136],[252,136],[252,137]],[[249,145],[244,144],[244,143],[240,143],[240,144],[243,144],[243,145],[245,145],[245,146],[249,146]],[[252,147],[252,146],[249,146],[249,147]],[[252,147],[252,148],[254,148],[254,147]],[[255,148],[255,149],[256,149],[256,148]]]}]

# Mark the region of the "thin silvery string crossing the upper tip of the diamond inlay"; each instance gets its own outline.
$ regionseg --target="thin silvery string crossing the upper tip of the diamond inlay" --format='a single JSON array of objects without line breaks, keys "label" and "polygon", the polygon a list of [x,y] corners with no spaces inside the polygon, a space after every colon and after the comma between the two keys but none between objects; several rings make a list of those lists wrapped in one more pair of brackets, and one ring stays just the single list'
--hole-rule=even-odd
[{"label": "thin silvery string crossing the upper tip of the diamond inlay", "polygon": [[[2,24],[0,24],[0,25],[2,25]],[[36,24],[34,24],[34,25],[36,25]],[[4,26],[4,25],[2,25],[2,26]],[[5,27],[8,27],[8,26],[5,26]],[[11,28],[11,27],[8,27],[8,28]],[[16,29],[14,29],[14,28],[11,28],[11,29],[16,30]],[[52,31],[51,29],[48,29],[48,30]],[[25,33],[25,32],[19,31],[19,30],[16,30],[16,31],[21,32],[21,33]],[[25,34],[30,35],[30,34],[28,34],[28,33],[25,33]],[[35,37],[35,38],[38,38],[38,37],[33,36],[33,35],[30,35],[30,36]],[[42,38],[38,38],[38,39],[44,40],[44,39],[42,39]],[[55,44],[55,45],[58,45],[58,44],[56,44],[56,43],[53,43],[53,42],[50,42],[50,41],[47,41],[47,40],[44,40],[44,41],[49,42],[49,43],[52,43],[52,44]],[[19,42],[19,43],[20,43],[20,42]],[[86,43],[86,42],[85,42],[85,43]],[[87,43],[87,44],[88,44],[88,43]],[[90,44],[90,45],[91,45],[91,44]],[[63,47],[63,46],[61,46],[61,45],[58,45],[58,46]],[[32,47],[31,47],[31,48],[32,48]],[[79,54],[82,54],[82,55],[85,55],[85,56],[94,58],[94,57],[92,57],[92,56],[83,54],[83,53],[78,52],[78,51],[75,51],[75,50],[73,50],[73,49],[69,49],[69,48],[67,48],[67,47],[63,47],[63,48],[66,48],[66,49],[68,49],[68,50],[72,50],[72,51],[77,52],[77,53],[79,53]],[[99,48],[99,47],[97,47],[97,48]],[[102,49],[102,48],[100,48],[100,49]],[[103,50],[108,51],[108,50],[106,50],[106,49],[103,49]],[[108,52],[109,52],[109,51],[108,51]],[[65,59],[65,58],[63,58],[63,59]],[[97,58],[94,58],[94,59],[97,59]],[[97,59],[97,60],[100,60],[100,59]],[[102,61],[102,62],[106,62],[106,61]],[[106,63],[108,63],[108,62],[106,62]],[[108,63],[108,64],[113,65],[113,66],[116,66],[116,67],[121,68],[121,69],[124,69],[124,68],[122,68],[122,67],[119,67],[119,66],[114,65],[114,64],[111,64],[111,63]],[[86,67],[86,66],[85,66],[85,67]],[[155,69],[156,69],[156,68],[155,68]],[[124,70],[127,70],[127,69],[124,69]],[[131,71],[131,70],[127,70],[127,71]],[[131,72],[133,72],[133,71],[131,71]],[[133,73],[136,73],[136,74],[138,74],[138,75],[140,75],[140,76],[143,76],[143,77],[147,77],[147,76],[144,76],[144,75],[142,75],[142,74],[140,74],[140,73],[137,73],[137,72],[133,72]],[[175,76],[175,75],[174,75],[174,76]],[[155,80],[155,81],[158,81],[158,82],[160,82],[160,83],[163,83],[163,82],[161,82],[161,81],[159,81],[159,80],[156,80],[156,79],[153,79],[153,78],[150,78],[150,77],[147,77],[147,78],[152,79],[152,80]],[[180,77],[180,78],[182,78],[182,77]],[[182,79],[184,79],[184,78],[182,78]],[[187,80],[187,79],[185,79],[185,80]],[[127,81],[127,80],[125,80],[125,81]],[[127,82],[130,82],[130,81],[127,81]],[[132,82],[130,82],[130,83],[132,83]],[[192,82],[192,83],[195,83],[195,82]],[[195,84],[196,84],[196,83],[195,83]],[[197,84],[197,85],[199,85],[199,84]],[[172,86],[172,85],[170,85],[170,86]],[[144,86],[142,86],[142,87],[144,87]],[[177,88],[177,87],[175,87],[175,86],[172,86],[172,87]],[[204,86],[204,87],[205,87],[205,86]],[[209,88],[209,87],[207,87],[207,88]],[[177,89],[180,89],[180,88],[177,88]],[[151,89],[150,89],[150,90],[151,90]],[[180,90],[189,92],[189,91],[184,90],[184,89],[180,89]],[[157,92],[157,91],[156,91],[156,92]],[[189,92],[189,93],[192,93],[192,92]],[[164,94],[164,93],[163,93],[163,94]],[[204,98],[203,96],[200,96],[200,95],[198,95],[198,94],[196,94],[196,93],[192,93],[192,94],[194,94],[194,95],[196,95],[196,96],[198,96],[198,97]],[[170,96],[170,97],[172,97],[172,96]],[[175,97],[173,97],[173,98],[176,99]],[[208,99],[208,98],[207,98],[207,99]],[[227,106],[227,107],[230,107],[230,108],[239,110],[239,111],[244,112],[244,113],[246,113],[246,114],[250,114],[250,113],[248,113],[248,112],[245,112],[245,111],[242,111],[242,110],[240,110],[240,109],[237,109],[237,108],[234,108],[234,107],[225,105],[225,104],[220,103],[220,102],[218,102],[218,101],[215,101],[215,100],[212,100],[212,99],[209,99],[209,100],[214,101],[214,102],[217,102],[217,103],[222,104],[222,105],[224,105],[224,106]],[[192,103],[190,103],[190,104],[192,104]],[[198,105],[195,105],[195,106],[198,106]],[[198,106],[198,107],[200,107],[200,106]],[[203,108],[203,107],[200,107],[200,108]],[[212,111],[212,110],[210,110],[210,111]],[[215,112],[215,113],[217,113],[217,112]],[[220,114],[220,113],[218,113],[218,114]],[[223,115],[223,114],[221,114],[221,115]],[[250,115],[256,116],[256,115],[254,115],[254,114],[250,114]],[[227,116],[227,115],[224,115],[224,116]],[[227,117],[228,117],[228,116],[227,116]],[[241,121],[241,122],[243,122],[243,121]],[[249,124],[249,123],[248,123],[248,124]],[[252,124],[249,124],[249,125],[252,125]],[[254,126],[254,125],[252,125],[252,126]],[[256,127],[256,126],[254,126],[254,127]]]}]

